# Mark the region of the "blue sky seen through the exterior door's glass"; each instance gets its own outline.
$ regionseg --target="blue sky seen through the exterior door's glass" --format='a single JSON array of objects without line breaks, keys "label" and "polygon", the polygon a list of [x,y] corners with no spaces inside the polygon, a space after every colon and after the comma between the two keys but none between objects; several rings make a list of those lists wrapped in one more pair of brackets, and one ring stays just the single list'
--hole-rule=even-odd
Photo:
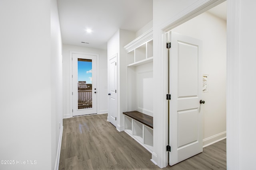
[{"label": "blue sky seen through the exterior door's glass", "polygon": [[92,62],[78,61],[78,81],[92,84]]}]

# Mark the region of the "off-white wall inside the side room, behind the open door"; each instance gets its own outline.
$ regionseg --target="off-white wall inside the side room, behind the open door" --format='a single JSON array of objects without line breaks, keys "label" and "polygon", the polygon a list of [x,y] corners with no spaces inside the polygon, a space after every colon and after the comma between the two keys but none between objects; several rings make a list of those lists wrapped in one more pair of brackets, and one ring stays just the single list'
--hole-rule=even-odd
[{"label": "off-white wall inside the side room, behind the open door", "polygon": [[226,21],[204,12],[172,31],[203,41],[202,74],[209,75],[209,92],[202,93],[201,111],[208,145],[226,136]]}]

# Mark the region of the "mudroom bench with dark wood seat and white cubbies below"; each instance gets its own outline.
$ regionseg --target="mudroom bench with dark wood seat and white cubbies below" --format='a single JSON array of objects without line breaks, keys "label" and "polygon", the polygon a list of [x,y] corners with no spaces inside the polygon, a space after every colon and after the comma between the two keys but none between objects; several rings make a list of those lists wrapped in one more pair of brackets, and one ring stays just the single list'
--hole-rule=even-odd
[{"label": "mudroom bench with dark wood seat and white cubbies below", "polygon": [[153,152],[153,117],[138,111],[123,113],[124,131],[149,152]]}]

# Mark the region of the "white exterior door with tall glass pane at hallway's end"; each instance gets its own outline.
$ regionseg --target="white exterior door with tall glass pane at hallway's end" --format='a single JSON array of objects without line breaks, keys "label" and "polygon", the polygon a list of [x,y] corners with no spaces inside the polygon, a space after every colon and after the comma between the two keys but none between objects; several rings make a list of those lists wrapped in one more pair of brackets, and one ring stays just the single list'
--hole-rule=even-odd
[{"label": "white exterior door with tall glass pane at hallway's end", "polygon": [[73,116],[97,113],[97,58],[72,54]]}]

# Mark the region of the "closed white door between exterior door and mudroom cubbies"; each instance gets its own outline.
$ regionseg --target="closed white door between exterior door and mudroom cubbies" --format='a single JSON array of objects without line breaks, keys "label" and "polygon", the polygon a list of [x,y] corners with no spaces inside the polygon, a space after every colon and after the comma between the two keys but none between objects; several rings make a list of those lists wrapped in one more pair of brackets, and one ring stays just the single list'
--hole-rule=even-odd
[{"label": "closed white door between exterior door and mudroom cubbies", "polygon": [[109,93],[108,93],[108,121],[115,127],[117,125],[117,56],[108,62],[109,68]]}]

